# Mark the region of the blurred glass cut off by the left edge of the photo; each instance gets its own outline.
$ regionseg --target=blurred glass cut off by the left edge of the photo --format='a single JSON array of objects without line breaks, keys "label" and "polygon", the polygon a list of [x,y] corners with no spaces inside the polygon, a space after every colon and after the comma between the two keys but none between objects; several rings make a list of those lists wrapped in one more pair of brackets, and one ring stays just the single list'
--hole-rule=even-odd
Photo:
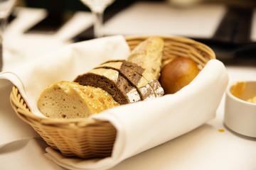
[{"label": "blurred glass cut off by the left edge of the photo", "polygon": [[3,33],[6,28],[7,18],[15,6],[16,0],[0,0],[0,72],[3,67]]}]

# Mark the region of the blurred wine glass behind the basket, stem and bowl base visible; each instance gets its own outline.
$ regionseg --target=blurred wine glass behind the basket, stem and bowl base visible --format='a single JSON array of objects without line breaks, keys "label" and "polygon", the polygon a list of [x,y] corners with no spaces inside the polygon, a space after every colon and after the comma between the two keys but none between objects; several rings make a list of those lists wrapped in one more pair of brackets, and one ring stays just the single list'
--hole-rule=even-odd
[{"label": "blurred wine glass behind the basket, stem and bowl base visible", "polygon": [[88,6],[92,11],[94,19],[94,34],[95,38],[103,36],[102,24],[103,24],[103,13],[105,8],[112,4],[114,0],[80,0],[83,4]]}]

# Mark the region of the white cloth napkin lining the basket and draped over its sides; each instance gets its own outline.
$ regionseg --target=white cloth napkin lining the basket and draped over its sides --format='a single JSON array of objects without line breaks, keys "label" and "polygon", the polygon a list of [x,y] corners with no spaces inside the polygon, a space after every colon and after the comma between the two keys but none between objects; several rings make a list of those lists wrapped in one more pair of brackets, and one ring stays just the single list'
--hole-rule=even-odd
[{"label": "white cloth napkin lining the basket and draped over its sides", "polygon": [[[110,59],[125,59],[129,47],[122,36],[79,42],[40,57],[26,65],[0,74],[11,80],[31,108],[36,107],[39,94],[57,81],[72,81]],[[228,74],[218,60],[211,60],[191,84],[173,95],[119,106],[94,115],[108,120],[117,128],[112,157],[105,159],[73,159],[63,157],[48,147],[46,157],[67,169],[110,169],[134,154],[155,147],[185,134],[215,117],[228,84]]]}]

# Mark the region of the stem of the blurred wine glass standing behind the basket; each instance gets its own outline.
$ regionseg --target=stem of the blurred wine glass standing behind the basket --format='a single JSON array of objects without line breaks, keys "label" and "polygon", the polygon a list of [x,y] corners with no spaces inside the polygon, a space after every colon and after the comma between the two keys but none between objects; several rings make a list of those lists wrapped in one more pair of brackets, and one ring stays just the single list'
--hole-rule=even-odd
[{"label": "stem of the blurred wine glass standing behind the basket", "polygon": [[103,11],[92,11],[94,19],[95,38],[103,37]]}]

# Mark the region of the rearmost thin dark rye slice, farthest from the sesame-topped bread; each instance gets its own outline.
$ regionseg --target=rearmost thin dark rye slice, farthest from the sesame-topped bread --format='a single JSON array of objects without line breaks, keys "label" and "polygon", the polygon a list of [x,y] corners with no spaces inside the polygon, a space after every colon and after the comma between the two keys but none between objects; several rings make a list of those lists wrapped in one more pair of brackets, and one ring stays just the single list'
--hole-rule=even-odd
[{"label": "rearmost thin dark rye slice, farthest from the sesame-topped bread", "polygon": [[153,89],[154,94],[155,94],[156,97],[164,95],[164,89],[161,87],[161,84],[156,79],[154,74],[152,74],[149,71],[149,69],[144,69],[144,68],[140,67],[139,65],[137,65],[137,64],[135,64],[133,62],[127,62],[126,60],[109,60],[109,61],[104,62],[102,64],[107,64],[107,63],[110,63],[110,62],[123,62],[122,66],[131,68],[132,70],[137,72],[139,75],[144,77],[144,79],[146,79],[146,81],[148,82],[149,86],[151,86],[151,88]]}]

